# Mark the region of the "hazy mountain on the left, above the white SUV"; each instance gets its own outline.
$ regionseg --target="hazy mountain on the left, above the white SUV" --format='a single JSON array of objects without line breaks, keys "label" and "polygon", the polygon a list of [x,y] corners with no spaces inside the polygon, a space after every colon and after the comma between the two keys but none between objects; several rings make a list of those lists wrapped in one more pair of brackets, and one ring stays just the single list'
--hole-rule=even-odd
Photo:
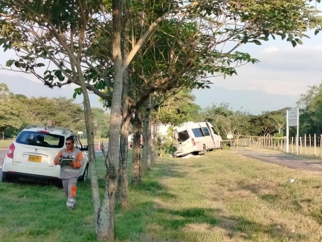
[{"label": "hazy mountain on the left, above the white SUV", "polygon": [[[9,90],[14,94],[23,94],[27,97],[66,97],[73,98],[74,88],[71,87],[54,87],[49,88],[48,86],[44,86],[41,81],[33,82],[23,76],[9,76],[1,74],[0,83],[5,83]],[[98,102],[98,96],[95,94],[89,93],[90,104],[92,107],[101,107],[102,104]],[[75,99],[76,103],[83,102],[83,96],[78,95]]]}]

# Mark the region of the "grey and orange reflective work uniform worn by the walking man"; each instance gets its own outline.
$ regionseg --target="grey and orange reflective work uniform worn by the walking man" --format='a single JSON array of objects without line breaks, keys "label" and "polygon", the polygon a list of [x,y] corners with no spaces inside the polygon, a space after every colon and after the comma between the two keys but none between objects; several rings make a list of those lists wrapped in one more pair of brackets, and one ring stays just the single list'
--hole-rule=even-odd
[{"label": "grey and orange reflective work uniform worn by the walking man", "polygon": [[[83,166],[83,154],[75,147],[71,151],[61,149],[57,156],[73,158],[73,162],[80,162],[78,165],[80,167]],[[77,179],[79,176],[80,167],[74,168],[73,166],[61,166],[60,175],[62,178],[62,186],[67,197],[67,208],[73,208],[76,203]]]}]

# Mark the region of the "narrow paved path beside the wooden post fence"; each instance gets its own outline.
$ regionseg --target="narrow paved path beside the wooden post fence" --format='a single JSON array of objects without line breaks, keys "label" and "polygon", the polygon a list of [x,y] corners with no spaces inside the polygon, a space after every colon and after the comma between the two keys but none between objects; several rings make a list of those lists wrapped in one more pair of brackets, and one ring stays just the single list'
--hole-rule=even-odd
[{"label": "narrow paved path beside the wooden post fence", "polygon": [[271,153],[259,150],[251,150],[247,149],[246,147],[233,148],[232,152],[279,166],[286,166],[292,169],[322,172],[322,160],[318,159],[294,157],[287,155],[286,153]]}]

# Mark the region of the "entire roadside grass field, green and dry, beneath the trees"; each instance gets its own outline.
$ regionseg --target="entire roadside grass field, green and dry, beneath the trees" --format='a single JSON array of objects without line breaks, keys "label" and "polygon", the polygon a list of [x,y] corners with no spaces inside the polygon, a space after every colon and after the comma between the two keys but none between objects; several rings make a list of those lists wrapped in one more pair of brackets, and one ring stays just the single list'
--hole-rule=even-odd
[{"label": "entire roadside grass field, green and dry, beneath the trees", "polygon": [[[102,160],[98,169],[103,177]],[[78,185],[68,211],[62,189],[0,183],[0,241],[95,241],[90,183]],[[320,242],[321,186],[321,174],[229,150],[160,158],[130,187],[129,207],[116,209],[117,241]]]}]

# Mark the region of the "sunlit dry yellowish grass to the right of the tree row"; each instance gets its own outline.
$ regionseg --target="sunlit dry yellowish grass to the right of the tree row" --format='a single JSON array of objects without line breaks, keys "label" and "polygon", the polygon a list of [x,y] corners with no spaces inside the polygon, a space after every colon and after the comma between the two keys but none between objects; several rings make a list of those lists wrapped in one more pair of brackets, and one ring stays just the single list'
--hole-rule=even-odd
[{"label": "sunlit dry yellowish grass to the right of the tree row", "polygon": [[[178,231],[158,226],[154,237],[183,241],[321,241],[322,177],[220,150],[202,158],[166,159],[161,186],[175,195],[155,200],[177,211]],[[171,174],[176,174],[175,176]],[[180,175],[179,175],[180,174]],[[294,183],[289,179],[294,178]],[[185,211],[185,212],[184,212]],[[190,211],[190,212],[189,212]],[[178,216],[181,215],[181,216]]]}]

